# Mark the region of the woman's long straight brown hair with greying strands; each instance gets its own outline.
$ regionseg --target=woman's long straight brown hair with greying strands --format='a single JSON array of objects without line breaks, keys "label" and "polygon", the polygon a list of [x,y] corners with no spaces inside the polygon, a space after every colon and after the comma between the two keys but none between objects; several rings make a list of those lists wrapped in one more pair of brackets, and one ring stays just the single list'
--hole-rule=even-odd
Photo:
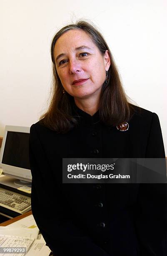
[{"label": "woman's long straight brown hair with greying strands", "polygon": [[50,106],[47,112],[40,117],[40,122],[58,133],[66,133],[78,125],[77,118],[72,116],[72,104],[74,103],[74,98],[67,92],[65,92],[65,94],[63,93],[63,86],[57,74],[53,54],[57,39],[63,33],[71,29],[82,29],[85,31],[98,47],[102,55],[105,54],[106,50],[109,51],[111,64],[108,70],[107,83],[103,84],[100,95],[100,120],[108,126],[114,126],[128,121],[134,112],[134,108],[125,94],[111,51],[102,34],[97,30],[94,24],[85,20],[79,20],[74,24],[61,28],[52,39],[51,57],[53,69],[53,93]]}]

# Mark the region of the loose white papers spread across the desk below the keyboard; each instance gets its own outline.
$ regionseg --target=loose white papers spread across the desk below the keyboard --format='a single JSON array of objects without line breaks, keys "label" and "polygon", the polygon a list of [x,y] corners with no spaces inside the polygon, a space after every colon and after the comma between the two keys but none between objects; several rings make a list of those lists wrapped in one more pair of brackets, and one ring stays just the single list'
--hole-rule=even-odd
[{"label": "loose white papers spread across the desk below the keyboard", "polygon": [[[27,253],[4,253],[4,256],[49,256],[51,250],[46,246],[42,235],[35,223],[33,215],[29,215],[6,227],[0,226],[0,247],[25,248]],[[3,254],[0,254],[3,255]]]}]

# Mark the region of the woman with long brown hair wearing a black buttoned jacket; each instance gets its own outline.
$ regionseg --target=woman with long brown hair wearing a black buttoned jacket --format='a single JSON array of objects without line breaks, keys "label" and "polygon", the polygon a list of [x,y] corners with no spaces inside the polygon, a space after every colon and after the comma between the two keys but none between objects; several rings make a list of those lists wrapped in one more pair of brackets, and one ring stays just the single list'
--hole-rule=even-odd
[{"label": "woman with long brown hair wearing a black buttoned jacket", "polygon": [[90,23],[52,40],[54,93],[30,128],[32,213],[57,256],[166,256],[166,184],[65,184],[63,158],[165,158],[157,114],[128,102]]}]

